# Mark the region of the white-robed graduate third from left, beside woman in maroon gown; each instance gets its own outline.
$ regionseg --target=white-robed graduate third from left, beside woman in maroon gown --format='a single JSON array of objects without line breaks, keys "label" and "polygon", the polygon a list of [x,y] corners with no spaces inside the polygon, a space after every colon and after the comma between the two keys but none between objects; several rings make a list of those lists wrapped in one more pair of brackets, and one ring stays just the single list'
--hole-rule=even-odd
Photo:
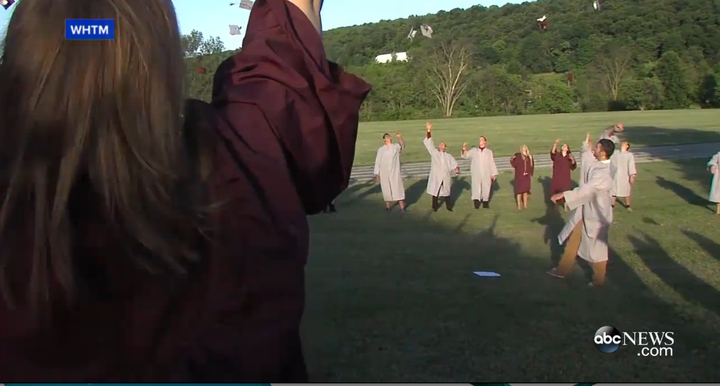
[{"label": "white-robed graduate third from left, beside woman in maroon gown", "polygon": [[470,176],[472,186],[472,200],[475,209],[490,207],[490,194],[492,186],[497,178],[497,166],[492,150],[487,148],[487,138],[480,137],[478,147],[467,148],[467,142],[463,143],[463,159],[470,160]]}]

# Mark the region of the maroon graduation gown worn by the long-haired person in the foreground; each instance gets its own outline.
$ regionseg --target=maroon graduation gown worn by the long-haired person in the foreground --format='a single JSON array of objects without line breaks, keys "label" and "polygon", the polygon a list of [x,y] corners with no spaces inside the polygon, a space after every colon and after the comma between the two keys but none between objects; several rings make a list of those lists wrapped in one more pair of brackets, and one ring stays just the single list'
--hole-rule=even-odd
[{"label": "maroon graduation gown worn by the long-haired person in the foreground", "polygon": [[48,328],[0,304],[0,380],[306,381],[306,215],[347,187],[368,92],[327,61],[294,5],[255,2],[212,104],[190,104],[220,137],[209,189],[226,202],[200,265],[185,282],[136,269],[115,254],[92,196],[76,197],[86,209],[76,212],[75,254],[93,262],[106,291],[56,304]]}]

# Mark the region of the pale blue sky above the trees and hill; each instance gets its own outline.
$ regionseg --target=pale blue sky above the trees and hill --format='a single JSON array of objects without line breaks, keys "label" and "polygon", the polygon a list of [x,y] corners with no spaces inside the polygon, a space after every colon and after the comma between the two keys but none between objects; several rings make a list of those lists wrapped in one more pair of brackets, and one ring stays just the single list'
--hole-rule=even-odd
[{"label": "pale blue sky above the trees and hill", "polygon": [[[22,1],[22,0],[21,0]],[[148,0],[150,1],[150,0]],[[242,43],[243,35],[230,36],[228,25],[247,24],[249,12],[230,7],[239,0],[173,0],[183,33],[193,29],[205,36],[220,36],[227,49],[236,49]],[[410,15],[426,15],[440,10],[469,8],[482,4],[503,5],[515,0],[325,0],[323,6],[323,28],[332,29],[356,24],[372,23],[383,19],[398,19]],[[14,7],[13,7],[14,8]],[[4,34],[11,11],[0,10],[0,31]]]}]

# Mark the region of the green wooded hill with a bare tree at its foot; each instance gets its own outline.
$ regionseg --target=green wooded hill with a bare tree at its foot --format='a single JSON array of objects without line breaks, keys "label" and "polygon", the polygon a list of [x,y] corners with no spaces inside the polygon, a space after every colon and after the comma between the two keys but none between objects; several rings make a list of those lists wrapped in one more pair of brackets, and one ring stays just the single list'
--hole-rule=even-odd
[{"label": "green wooded hill with a bare tree at its foot", "polygon": [[[373,85],[364,120],[720,107],[720,2],[600,1],[600,11],[592,0],[475,6],[323,40],[331,60]],[[422,24],[432,39],[407,39]],[[374,63],[393,52],[410,60]]]}]

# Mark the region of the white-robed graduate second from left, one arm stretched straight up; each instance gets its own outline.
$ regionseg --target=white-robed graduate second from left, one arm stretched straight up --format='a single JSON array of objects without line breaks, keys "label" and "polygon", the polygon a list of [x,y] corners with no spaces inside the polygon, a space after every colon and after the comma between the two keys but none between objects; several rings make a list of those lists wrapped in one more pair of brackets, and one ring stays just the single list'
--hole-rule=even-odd
[{"label": "white-robed graduate second from left, one arm stretched straight up", "polygon": [[432,209],[440,209],[440,199],[445,202],[445,207],[452,212],[453,202],[451,197],[452,176],[460,174],[460,167],[455,157],[447,152],[445,142],[440,142],[438,147],[432,139],[432,124],[425,124],[426,135],[423,143],[430,153],[430,175],[428,176],[427,194],[432,196]]}]

